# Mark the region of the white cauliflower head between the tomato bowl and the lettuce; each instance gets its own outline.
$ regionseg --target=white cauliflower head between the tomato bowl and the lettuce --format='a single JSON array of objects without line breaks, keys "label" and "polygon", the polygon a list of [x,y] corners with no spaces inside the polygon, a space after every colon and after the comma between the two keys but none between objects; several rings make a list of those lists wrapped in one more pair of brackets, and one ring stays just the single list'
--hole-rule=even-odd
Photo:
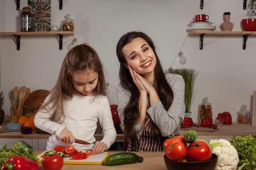
[{"label": "white cauliflower head between the tomato bowl and the lettuce", "polygon": [[236,170],[239,162],[236,148],[225,139],[211,140],[210,144],[213,146],[213,153],[219,157],[216,170]]}]

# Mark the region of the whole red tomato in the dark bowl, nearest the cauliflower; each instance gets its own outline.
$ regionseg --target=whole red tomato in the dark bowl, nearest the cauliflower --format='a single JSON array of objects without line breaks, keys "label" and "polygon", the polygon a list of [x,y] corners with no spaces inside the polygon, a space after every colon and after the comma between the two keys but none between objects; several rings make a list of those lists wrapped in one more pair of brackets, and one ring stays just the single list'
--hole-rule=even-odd
[{"label": "whole red tomato in the dark bowl, nearest the cauliflower", "polygon": [[211,158],[211,150],[203,141],[195,141],[188,146],[187,156],[191,161],[207,161]]}]

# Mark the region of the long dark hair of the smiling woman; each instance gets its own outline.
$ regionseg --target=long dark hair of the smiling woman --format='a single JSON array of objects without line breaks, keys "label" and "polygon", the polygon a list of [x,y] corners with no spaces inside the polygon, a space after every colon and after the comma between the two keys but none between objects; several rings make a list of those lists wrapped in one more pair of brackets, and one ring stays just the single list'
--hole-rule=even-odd
[{"label": "long dark hair of the smiling woman", "polygon": [[[136,31],[128,32],[125,35],[123,35],[117,43],[117,57],[120,62],[120,83],[126,90],[128,90],[131,93],[130,101],[124,109],[124,136],[125,141],[130,141],[132,150],[136,150],[139,145],[134,125],[137,124],[137,121],[139,119],[140,110],[138,102],[140,93],[137,86],[132,81],[129,69],[125,67],[127,61],[123,53],[123,48],[126,44],[129,44],[135,38],[143,38],[155,53],[157,63],[154,68],[155,80],[153,86],[156,89],[157,94],[159,95],[159,98],[162,101],[162,104],[164,105],[165,109],[168,110],[173,102],[173,91],[171,89],[171,86],[166,81],[165,73],[162,69],[162,65],[159,61],[159,58],[155,51],[154,43],[151,40],[151,38],[148,37],[148,35],[146,35],[145,33]],[[162,136],[159,129],[154,123],[153,130],[156,137]],[[124,149],[127,149],[126,142],[124,143]]]}]

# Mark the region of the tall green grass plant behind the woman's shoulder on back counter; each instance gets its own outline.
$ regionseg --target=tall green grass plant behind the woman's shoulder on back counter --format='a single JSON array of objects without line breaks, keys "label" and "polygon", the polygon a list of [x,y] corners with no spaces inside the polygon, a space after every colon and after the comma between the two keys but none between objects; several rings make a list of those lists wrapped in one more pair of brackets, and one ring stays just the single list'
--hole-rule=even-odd
[{"label": "tall green grass plant behind the woman's shoulder on back counter", "polygon": [[191,117],[191,105],[195,97],[194,85],[198,71],[191,68],[168,68],[168,73],[182,75],[185,82],[185,117]]}]

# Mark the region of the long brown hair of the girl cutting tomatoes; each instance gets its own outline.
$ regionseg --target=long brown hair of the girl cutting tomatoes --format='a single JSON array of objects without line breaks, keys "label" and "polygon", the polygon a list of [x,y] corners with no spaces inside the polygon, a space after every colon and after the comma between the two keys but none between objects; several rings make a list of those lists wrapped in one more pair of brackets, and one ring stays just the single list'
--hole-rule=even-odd
[{"label": "long brown hair of the girl cutting tomatoes", "polygon": [[44,103],[41,108],[51,104],[52,108],[59,108],[61,115],[64,116],[63,101],[66,97],[72,98],[74,88],[72,84],[73,73],[83,73],[84,71],[93,70],[98,73],[98,83],[94,89],[97,95],[105,95],[105,78],[103,66],[97,52],[88,44],[74,46],[67,52],[63,60],[56,85],[49,93],[49,101]]}]

